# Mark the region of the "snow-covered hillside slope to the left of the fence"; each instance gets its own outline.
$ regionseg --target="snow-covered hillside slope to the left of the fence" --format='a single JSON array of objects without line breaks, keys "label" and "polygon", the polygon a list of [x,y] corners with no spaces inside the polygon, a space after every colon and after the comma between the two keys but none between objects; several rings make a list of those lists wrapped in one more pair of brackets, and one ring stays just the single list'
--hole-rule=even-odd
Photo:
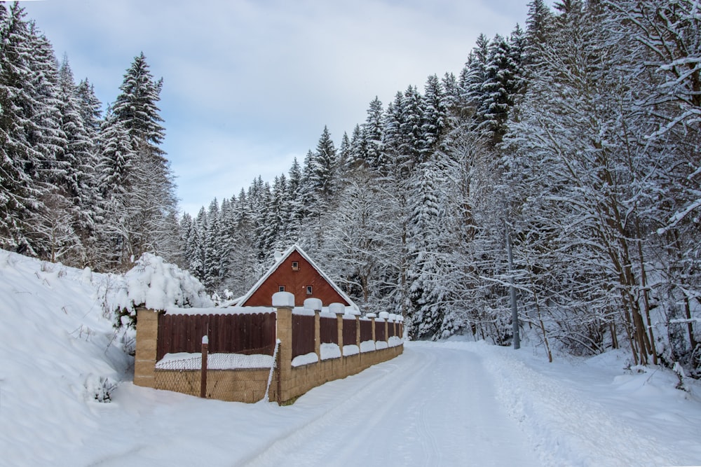
[{"label": "snow-covered hillside slope to the left of the fence", "polygon": [[101,304],[113,281],[0,250],[0,445],[15,465],[84,442],[71,428],[89,430],[97,399],[128,377],[124,336]]}]

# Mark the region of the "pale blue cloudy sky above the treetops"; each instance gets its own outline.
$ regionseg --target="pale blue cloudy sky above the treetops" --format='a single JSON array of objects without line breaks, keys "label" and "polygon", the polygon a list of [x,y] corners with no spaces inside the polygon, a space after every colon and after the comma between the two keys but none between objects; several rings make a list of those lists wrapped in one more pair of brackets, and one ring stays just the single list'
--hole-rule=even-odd
[{"label": "pale blue cloudy sky above the treetops", "polygon": [[196,214],[336,146],[375,96],[458,74],[480,32],[524,25],[529,0],[25,1],[59,60],[106,106],[143,52],[163,78],[163,149],[180,206]]}]

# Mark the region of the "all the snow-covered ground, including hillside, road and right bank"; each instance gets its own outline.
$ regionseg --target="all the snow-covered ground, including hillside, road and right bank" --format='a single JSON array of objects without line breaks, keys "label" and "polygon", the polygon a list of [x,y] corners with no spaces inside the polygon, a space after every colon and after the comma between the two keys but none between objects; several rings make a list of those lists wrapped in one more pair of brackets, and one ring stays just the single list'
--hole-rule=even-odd
[{"label": "all the snow-covered ground, including hillside, road and right bank", "polygon": [[408,342],[287,407],[140,388],[119,281],[0,251],[0,466],[701,464],[701,386],[625,352]]}]

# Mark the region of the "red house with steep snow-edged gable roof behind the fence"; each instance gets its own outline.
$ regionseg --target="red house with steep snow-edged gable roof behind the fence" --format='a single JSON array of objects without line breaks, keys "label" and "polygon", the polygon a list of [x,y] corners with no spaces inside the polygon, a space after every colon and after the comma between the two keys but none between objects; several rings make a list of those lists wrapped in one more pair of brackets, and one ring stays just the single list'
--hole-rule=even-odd
[{"label": "red house with steep snow-edged gable roof behind the fence", "polygon": [[351,298],[343,293],[299,246],[287,249],[275,265],[239,301],[240,307],[269,307],[276,292],[290,292],[294,305],[301,307],[307,298],[318,298],[324,307],[342,303],[358,309]]}]

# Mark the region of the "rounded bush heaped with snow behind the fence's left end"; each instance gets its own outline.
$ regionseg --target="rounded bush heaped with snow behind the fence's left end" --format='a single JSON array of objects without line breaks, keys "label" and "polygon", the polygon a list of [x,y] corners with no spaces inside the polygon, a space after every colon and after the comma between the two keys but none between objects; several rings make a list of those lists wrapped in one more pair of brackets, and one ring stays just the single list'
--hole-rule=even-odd
[{"label": "rounded bush heaped with snow behind the fence's left end", "polygon": [[135,328],[136,307],[151,309],[213,307],[205,287],[195,277],[160,256],[144,253],[117,281],[106,307],[114,310],[114,326]]}]

